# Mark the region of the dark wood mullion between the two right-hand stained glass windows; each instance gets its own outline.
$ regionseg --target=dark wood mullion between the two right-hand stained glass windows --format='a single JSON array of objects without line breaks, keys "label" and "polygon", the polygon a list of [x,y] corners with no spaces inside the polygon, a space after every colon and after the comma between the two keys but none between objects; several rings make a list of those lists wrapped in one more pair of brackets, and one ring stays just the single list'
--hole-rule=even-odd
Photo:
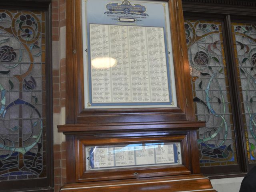
[{"label": "dark wood mullion between the two right-hand stained glass windows", "polygon": [[224,19],[223,40],[225,54],[226,54],[226,66],[228,73],[230,102],[233,116],[233,126],[236,138],[236,152],[240,170],[242,172],[248,171],[248,157],[246,153],[246,140],[244,133],[243,114],[240,98],[240,90],[238,84],[238,75],[236,69],[236,58],[233,42],[233,34],[231,28],[230,15],[226,15]]}]

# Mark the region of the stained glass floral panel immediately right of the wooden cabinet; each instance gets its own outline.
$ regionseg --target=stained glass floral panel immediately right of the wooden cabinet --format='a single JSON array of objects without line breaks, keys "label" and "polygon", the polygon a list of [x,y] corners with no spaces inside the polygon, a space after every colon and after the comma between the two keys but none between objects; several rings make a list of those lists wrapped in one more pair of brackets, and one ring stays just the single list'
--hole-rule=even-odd
[{"label": "stained glass floral panel immediately right of the wooden cabinet", "polygon": [[220,22],[185,20],[193,99],[198,120],[200,166],[237,163]]}]

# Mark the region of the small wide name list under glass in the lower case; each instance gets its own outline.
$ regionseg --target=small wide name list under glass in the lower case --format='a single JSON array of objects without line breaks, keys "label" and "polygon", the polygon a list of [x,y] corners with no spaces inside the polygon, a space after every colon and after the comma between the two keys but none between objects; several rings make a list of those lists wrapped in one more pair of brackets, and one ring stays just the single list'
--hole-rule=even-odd
[{"label": "small wide name list under glass in the lower case", "polygon": [[176,163],[174,144],[90,148],[88,162],[94,168],[114,168]]}]

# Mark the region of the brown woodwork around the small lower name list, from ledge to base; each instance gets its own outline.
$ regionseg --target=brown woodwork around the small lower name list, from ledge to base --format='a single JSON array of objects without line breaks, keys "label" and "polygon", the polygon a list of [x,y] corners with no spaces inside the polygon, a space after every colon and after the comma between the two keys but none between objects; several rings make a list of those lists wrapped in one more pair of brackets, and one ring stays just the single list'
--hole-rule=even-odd
[{"label": "brown woodwork around the small lower name list, from ledge to base", "polygon": [[[204,122],[180,121],[180,122],[139,122],[139,123],[110,123],[110,124],[66,124],[58,126],[58,131],[66,135],[67,183],[62,187],[62,192],[86,192],[86,191],[111,191],[112,184],[122,185],[135,184],[136,191],[140,190],[140,182],[149,182],[155,185],[158,179],[167,182],[168,191],[173,188],[180,190],[196,189],[215,191],[212,189],[210,180],[200,174],[198,162],[198,149],[196,130],[204,126]],[[150,141],[178,141],[182,146],[182,164],[173,166],[155,166],[144,168],[126,168],[102,171],[86,171],[84,168],[84,145],[93,144],[119,144],[138,143]],[[134,174],[134,173],[137,174]],[[133,180],[136,179],[136,180]],[[197,180],[196,184],[168,184],[168,180],[179,179]],[[204,183],[198,186],[198,182],[204,179]],[[153,182],[151,184],[151,182]],[[104,189],[96,189],[103,185]],[[108,187],[110,184],[110,187]],[[128,185],[130,185],[128,184]],[[155,185],[155,191],[162,191],[161,185]],[[90,188],[92,187],[92,188]],[[121,189],[120,189],[121,191]],[[172,191],[172,190],[171,190]],[[200,191],[200,190],[198,190]]]}]

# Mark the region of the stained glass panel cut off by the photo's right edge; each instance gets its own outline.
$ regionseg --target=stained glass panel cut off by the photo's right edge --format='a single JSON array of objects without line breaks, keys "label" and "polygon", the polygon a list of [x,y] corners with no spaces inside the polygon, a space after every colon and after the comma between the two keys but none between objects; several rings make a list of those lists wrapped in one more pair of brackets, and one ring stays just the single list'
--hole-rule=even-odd
[{"label": "stained glass panel cut off by the photo's right edge", "polygon": [[256,25],[232,23],[249,163],[256,163]]}]

